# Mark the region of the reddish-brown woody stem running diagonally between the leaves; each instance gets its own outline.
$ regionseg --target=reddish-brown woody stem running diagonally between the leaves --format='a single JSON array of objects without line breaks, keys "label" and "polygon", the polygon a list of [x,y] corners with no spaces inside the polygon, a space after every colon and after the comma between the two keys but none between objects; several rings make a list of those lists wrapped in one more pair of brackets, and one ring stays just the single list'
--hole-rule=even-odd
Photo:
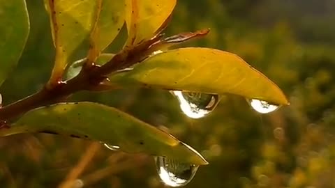
[{"label": "reddish-brown woody stem running diagonally between the leaves", "polygon": [[[6,122],[20,116],[31,109],[43,107],[65,100],[69,95],[83,90],[91,90],[98,86],[107,75],[128,68],[135,63],[142,61],[152,53],[150,46],[161,39],[161,35],[154,36],[151,40],[143,42],[132,49],[121,50],[105,65],[82,69],[79,75],[68,81],[58,81],[53,87],[44,87],[37,93],[22,100],[18,100],[0,109],[0,120]],[[0,125],[1,127],[1,125]]]}]

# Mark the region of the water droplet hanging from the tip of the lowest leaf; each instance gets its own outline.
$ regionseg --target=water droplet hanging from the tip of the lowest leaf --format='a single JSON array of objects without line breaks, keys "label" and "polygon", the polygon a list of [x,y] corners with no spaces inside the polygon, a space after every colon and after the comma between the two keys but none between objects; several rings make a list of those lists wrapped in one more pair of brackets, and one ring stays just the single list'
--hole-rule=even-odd
[{"label": "water droplet hanging from the tip of the lowest leaf", "polygon": [[159,177],[170,187],[181,187],[191,182],[199,167],[161,156],[155,157],[155,160]]}]

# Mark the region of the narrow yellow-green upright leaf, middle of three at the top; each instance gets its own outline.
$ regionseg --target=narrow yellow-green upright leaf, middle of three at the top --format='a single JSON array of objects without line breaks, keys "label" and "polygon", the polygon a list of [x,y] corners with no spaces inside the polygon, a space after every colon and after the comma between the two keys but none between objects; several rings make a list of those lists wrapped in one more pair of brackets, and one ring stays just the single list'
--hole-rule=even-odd
[{"label": "narrow yellow-green upright leaf, middle of three at the top", "polygon": [[[96,20],[91,32],[91,48],[88,58],[95,58],[117,36],[124,24],[124,1],[98,0]],[[90,56],[91,54],[91,56]]]}]

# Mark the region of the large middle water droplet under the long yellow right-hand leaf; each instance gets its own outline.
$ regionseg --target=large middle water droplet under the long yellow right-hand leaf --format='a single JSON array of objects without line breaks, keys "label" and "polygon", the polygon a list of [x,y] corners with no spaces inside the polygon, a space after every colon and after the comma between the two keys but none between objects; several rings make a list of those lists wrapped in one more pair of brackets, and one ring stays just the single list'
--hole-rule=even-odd
[{"label": "large middle water droplet under the long yellow right-hand leaf", "polygon": [[179,101],[180,109],[190,118],[202,118],[213,111],[218,104],[218,95],[172,91]]}]

